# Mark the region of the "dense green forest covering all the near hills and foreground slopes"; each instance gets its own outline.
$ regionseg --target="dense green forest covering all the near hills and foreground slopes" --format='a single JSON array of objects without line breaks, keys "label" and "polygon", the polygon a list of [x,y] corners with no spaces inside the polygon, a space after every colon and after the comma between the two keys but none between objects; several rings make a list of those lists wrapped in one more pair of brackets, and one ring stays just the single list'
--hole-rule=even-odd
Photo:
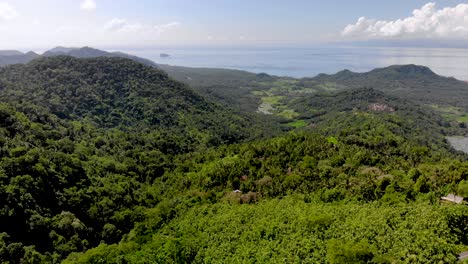
[{"label": "dense green forest covering all the near hills and foreground slopes", "polygon": [[468,247],[467,207],[440,202],[468,193],[445,139],[466,129],[438,110],[179,70],[199,85],[119,58],[0,69],[1,262],[454,263]]}]

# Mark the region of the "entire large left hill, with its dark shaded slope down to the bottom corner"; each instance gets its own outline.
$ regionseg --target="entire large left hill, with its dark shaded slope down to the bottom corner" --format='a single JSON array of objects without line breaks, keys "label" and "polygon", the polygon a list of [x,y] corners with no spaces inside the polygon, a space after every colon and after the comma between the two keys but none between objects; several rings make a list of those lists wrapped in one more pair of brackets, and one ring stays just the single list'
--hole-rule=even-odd
[{"label": "entire large left hill, with its dark shaded slope down to the bottom corner", "polygon": [[116,242],[158,203],[151,186],[175,157],[275,131],[128,59],[4,67],[0,260],[57,262]]}]

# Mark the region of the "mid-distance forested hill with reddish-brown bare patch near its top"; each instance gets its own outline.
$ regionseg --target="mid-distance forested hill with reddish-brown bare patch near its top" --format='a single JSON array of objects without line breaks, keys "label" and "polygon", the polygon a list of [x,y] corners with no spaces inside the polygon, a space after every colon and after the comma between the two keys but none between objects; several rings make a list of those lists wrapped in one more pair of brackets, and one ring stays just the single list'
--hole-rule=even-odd
[{"label": "mid-distance forested hill with reddish-brown bare patch near its top", "polygon": [[[347,89],[335,93],[312,94],[290,102],[298,118],[312,125],[325,127],[330,133],[352,129],[353,118],[349,113],[371,113],[388,122],[398,123],[400,136],[418,141],[425,146],[448,148],[446,134],[464,134],[466,129],[455,122],[446,121],[430,107],[373,89]],[[325,123],[326,125],[322,125]],[[341,123],[339,125],[338,123]],[[331,125],[334,124],[334,125]],[[348,125],[345,125],[348,124]],[[369,127],[372,129],[372,127]],[[365,130],[360,128],[359,130]],[[356,133],[354,131],[352,133]],[[352,134],[351,133],[351,134]]]}]

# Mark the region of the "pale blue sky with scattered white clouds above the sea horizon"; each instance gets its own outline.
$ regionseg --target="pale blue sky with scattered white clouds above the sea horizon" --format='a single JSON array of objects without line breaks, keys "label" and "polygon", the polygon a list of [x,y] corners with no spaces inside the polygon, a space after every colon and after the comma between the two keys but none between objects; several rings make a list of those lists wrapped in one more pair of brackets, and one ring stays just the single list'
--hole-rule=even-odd
[{"label": "pale blue sky with scattered white clouds above the sea horizon", "polygon": [[468,1],[0,0],[0,49],[420,40],[468,47]]}]

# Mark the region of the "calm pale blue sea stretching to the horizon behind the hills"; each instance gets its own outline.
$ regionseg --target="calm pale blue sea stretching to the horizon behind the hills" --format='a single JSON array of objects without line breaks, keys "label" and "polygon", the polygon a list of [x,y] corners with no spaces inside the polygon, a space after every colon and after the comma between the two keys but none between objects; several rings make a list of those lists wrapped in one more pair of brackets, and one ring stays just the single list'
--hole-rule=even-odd
[{"label": "calm pale blue sea stretching to the horizon behind the hills", "polygon": [[[160,64],[239,69],[291,77],[313,77],[349,69],[365,72],[394,64],[430,67],[440,75],[468,80],[468,49],[398,47],[154,48],[126,50]],[[161,58],[167,53],[169,58]]]}]

